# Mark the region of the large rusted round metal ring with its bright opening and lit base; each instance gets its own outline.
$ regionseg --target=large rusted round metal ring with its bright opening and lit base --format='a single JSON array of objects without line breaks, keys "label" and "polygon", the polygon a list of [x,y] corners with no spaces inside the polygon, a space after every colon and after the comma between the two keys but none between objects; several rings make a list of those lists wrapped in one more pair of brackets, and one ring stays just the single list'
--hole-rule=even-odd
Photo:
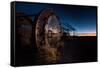
[{"label": "large rusted round metal ring with its bright opening and lit base", "polygon": [[46,9],[40,13],[35,23],[35,40],[39,50],[38,57],[41,57],[42,61],[45,61],[44,63],[57,63],[59,59],[57,50],[59,45],[57,46],[57,42],[61,37],[58,17],[52,10]]}]

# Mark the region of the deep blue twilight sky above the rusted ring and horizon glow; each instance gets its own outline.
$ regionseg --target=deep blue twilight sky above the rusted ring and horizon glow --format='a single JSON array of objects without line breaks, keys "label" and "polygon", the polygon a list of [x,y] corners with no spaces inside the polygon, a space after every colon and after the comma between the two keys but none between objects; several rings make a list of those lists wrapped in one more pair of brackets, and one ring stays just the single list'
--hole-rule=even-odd
[{"label": "deep blue twilight sky above the rusted ring and horizon glow", "polygon": [[69,23],[78,33],[96,33],[97,8],[94,6],[16,3],[16,11],[38,14],[44,8],[53,8],[61,24]]}]

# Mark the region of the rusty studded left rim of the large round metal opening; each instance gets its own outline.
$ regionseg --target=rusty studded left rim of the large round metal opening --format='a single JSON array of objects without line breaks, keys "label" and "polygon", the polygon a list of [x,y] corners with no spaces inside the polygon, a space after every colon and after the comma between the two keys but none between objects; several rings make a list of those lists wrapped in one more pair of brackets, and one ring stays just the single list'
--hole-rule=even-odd
[{"label": "rusty studded left rim of the large round metal opening", "polygon": [[44,10],[40,13],[36,21],[35,28],[35,39],[37,47],[45,46],[45,25],[47,24],[47,19],[50,15],[52,15],[52,11]]}]

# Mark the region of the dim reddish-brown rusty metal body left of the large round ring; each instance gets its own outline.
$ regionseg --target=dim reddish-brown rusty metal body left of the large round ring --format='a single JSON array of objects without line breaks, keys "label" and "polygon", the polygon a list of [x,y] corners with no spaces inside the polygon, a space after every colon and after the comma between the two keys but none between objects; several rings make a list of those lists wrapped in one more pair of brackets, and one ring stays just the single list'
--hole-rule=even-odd
[{"label": "dim reddish-brown rusty metal body left of the large round ring", "polygon": [[21,17],[24,13],[16,13],[16,33],[20,47],[28,48],[32,46],[32,19]]}]

